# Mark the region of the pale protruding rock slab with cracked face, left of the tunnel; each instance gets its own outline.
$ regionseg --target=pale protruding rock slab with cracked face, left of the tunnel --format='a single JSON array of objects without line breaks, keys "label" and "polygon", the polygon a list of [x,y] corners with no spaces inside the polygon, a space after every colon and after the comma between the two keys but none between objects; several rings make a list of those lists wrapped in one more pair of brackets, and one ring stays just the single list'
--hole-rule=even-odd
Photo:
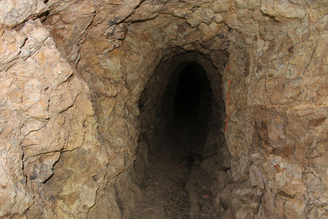
[{"label": "pale protruding rock slab with cracked face, left of the tunnel", "polygon": [[[4,30],[1,43],[0,216],[85,214],[83,204],[93,205],[97,189],[92,177],[107,159],[100,153],[89,88],[38,19]],[[83,175],[72,174],[83,165]],[[60,209],[59,197],[80,203],[74,211]]]}]

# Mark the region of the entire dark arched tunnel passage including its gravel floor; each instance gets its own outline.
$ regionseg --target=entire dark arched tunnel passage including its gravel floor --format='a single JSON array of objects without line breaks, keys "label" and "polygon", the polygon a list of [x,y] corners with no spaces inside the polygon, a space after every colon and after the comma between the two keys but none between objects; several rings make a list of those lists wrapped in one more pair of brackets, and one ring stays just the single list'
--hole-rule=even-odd
[{"label": "entire dark arched tunnel passage including its gravel floor", "polygon": [[[223,106],[218,104],[222,99],[216,100],[221,93],[213,95],[208,79],[215,78],[217,69],[207,72],[195,61],[182,62],[171,72],[164,66],[169,65],[157,66],[139,102],[142,127],[134,178],[144,199],[131,218],[218,218],[210,189],[214,174],[204,162],[217,151],[215,139],[208,141],[209,132],[220,127],[213,111]],[[141,170],[138,156],[149,160]]]}]

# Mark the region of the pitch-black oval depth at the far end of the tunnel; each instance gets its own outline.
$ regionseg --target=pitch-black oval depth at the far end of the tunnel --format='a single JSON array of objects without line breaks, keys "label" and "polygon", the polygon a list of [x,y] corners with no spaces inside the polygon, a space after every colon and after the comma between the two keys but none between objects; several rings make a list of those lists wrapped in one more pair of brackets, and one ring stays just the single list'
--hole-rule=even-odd
[{"label": "pitch-black oval depth at the far end of the tunnel", "polygon": [[161,108],[167,111],[162,116],[165,127],[160,136],[161,144],[166,145],[167,140],[174,140],[177,147],[183,149],[178,150],[182,156],[187,156],[188,165],[191,165],[195,156],[201,158],[212,112],[212,96],[206,72],[196,62],[185,63],[163,94],[167,98],[162,100]]}]

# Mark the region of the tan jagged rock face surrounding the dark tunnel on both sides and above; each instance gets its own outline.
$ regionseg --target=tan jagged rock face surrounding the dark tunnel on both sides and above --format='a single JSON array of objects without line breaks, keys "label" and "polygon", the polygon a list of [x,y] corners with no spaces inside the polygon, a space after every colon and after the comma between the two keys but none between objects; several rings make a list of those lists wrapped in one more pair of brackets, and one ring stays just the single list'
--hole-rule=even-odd
[{"label": "tan jagged rock face surrounding the dark tunnel on both sides and above", "polygon": [[327,216],[326,1],[0,9],[0,218],[129,218],[140,196],[133,165],[147,163],[141,93],[166,75],[157,66],[194,61],[226,112],[206,161],[223,218]]}]

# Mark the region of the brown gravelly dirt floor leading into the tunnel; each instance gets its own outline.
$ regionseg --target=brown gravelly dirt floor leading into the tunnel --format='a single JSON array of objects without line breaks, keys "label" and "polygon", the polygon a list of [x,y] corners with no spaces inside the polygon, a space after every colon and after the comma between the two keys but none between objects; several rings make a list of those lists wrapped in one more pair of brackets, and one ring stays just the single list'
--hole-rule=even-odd
[{"label": "brown gravelly dirt floor leading into the tunnel", "polygon": [[197,123],[182,117],[163,136],[145,170],[144,198],[131,218],[220,218],[210,192],[213,179],[200,169],[206,131]]}]

